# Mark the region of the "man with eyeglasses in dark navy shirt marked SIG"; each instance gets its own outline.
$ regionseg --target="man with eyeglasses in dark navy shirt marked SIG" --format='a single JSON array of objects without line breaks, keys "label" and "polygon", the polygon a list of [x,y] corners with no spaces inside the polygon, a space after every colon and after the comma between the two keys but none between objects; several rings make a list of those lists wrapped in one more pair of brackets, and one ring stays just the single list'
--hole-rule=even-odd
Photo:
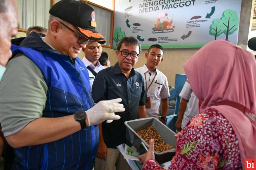
[{"label": "man with eyeglasses in dark navy shirt marked SIG", "polygon": [[122,98],[125,111],[117,113],[120,120],[99,125],[99,147],[95,159],[95,170],[130,169],[122,154],[116,148],[126,141],[127,120],[146,118],[146,91],[143,77],[133,67],[138,61],[141,46],[134,37],[124,37],[117,46],[118,62],[113,67],[100,71],[93,82],[94,102]]}]

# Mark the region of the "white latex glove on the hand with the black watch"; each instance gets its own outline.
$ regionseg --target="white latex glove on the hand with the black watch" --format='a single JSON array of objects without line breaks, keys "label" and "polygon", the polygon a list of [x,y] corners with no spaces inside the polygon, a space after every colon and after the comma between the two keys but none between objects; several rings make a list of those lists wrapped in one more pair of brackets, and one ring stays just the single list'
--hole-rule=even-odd
[{"label": "white latex glove on the hand with the black watch", "polygon": [[113,121],[120,119],[121,117],[119,115],[115,115],[114,112],[125,111],[124,105],[119,103],[121,101],[121,98],[99,101],[91,109],[85,111],[88,119],[87,126],[98,125],[104,122],[105,120]]}]

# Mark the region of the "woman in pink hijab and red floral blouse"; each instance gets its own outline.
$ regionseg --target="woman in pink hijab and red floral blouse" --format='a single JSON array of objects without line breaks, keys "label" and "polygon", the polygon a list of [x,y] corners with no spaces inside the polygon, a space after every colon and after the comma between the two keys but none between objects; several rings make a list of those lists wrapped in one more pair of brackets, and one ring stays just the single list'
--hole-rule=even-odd
[{"label": "woman in pink hijab and red floral blouse", "polygon": [[[178,136],[168,169],[244,169],[246,158],[256,158],[254,56],[216,40],[198,50],[184,70],[202,103],[200,114]],[[149,152],[139,157],[143,170],[161,169],[153,150],[154,140]]]}]

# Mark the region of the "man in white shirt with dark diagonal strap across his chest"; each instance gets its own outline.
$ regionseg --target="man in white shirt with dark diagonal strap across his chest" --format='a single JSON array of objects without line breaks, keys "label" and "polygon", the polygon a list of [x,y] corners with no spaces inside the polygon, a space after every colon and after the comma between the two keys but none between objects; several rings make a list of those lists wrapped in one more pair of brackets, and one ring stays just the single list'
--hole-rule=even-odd
[{"label": "man in white shirt with dark diagonal strap across his chest", "polygon": [[82,59],[82,61],[88,69],[89,81],[92,90],[92,84],[95,79],[95,76],[99,71],[105,69],[104,66],[100,65],[100,62],[98,60],[101,56],[102,47],[101,44],[98,42],[90,42],[88,45],[86,45],[86,48],[82,50],[85,53],[85,56]]}]

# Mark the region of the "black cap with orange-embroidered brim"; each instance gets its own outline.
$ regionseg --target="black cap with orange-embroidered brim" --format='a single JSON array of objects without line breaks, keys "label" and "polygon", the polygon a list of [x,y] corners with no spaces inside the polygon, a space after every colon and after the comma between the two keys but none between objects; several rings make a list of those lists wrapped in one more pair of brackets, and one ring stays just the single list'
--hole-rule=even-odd
[{"label": "black cap with orange-embroidered brim", "polygon": [[106,42],[105,37],[95,30],[97,27],[95,12],[88,4],[75,0],[61,0],[50,9],[49,13],[72,24],[85,38],[100,44]]}]

